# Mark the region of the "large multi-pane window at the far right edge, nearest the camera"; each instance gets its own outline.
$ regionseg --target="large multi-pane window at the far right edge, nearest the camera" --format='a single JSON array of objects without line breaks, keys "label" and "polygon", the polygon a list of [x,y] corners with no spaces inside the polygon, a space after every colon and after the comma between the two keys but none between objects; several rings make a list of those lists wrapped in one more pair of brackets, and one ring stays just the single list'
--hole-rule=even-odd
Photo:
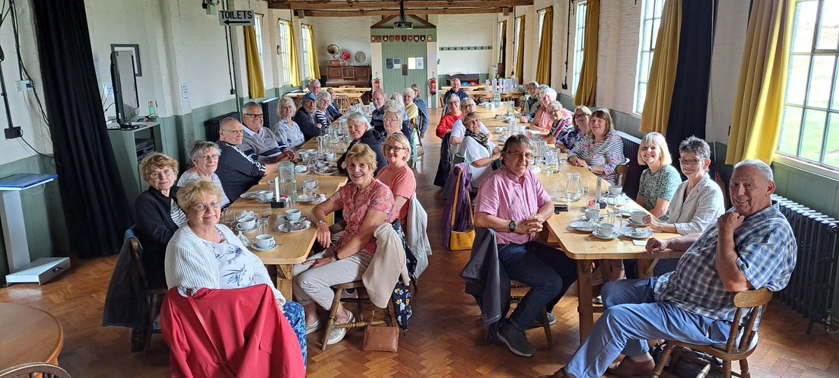
[{"label": "large multi-pane window at the far right edge, nearest the camera", "polygon": [[839,168],[839,2],[795,4],[778,152]]}]

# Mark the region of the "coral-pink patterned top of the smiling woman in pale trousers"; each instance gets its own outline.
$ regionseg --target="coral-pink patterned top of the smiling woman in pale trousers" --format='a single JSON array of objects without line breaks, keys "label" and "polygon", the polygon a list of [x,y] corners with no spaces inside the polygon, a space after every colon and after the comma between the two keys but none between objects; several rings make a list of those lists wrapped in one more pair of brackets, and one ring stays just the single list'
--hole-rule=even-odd
[{"label": "coral-pink patterned top of the smiling woman in pale trousers", "polygon": [[[388,215],[384,220],[387,223],[393,222],[393,194],[387,185],[382,184],[381,181],[373,180],[373,184],[367,189],[360,190],[356,184],[347,184],[332,195],[332,202],[344,210],[344,220],[347,220],[347,228],[344,229],[344,235],[338,240],[338,248],[347,244],[352,236],[358,235],[362,230],[364,219],[367,218],[367,210],[377,210]],[[371,237],[367,244],[365,244],[361,251],[368,255],[376,253],[376,239]]]}]

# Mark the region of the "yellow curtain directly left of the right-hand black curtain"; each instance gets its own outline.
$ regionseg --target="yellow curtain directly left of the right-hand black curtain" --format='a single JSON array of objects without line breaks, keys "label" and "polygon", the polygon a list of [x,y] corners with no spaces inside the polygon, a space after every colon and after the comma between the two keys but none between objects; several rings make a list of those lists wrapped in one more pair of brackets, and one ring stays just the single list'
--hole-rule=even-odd
[{"label": "yellow curtain directly left of the right-hand black curtain", "polygon": [[670,121],[670,101],[676,82],[681,33],[681,0],[664,3],[659,36],[655,40],[653,64],[649,69],[647,97],[641,114],[641,132],[660,132],[667,136]]}]

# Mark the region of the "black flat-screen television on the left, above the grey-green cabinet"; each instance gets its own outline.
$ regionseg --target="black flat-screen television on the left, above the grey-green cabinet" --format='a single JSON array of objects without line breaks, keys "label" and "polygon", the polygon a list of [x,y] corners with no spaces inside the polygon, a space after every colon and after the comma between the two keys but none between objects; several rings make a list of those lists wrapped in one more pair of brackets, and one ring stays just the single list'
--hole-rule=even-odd
[{"label": "black flat-screen television on the left, above the grey-green cabinet", "polygon": [[128,51],[111,53],[111,83],[113,101],[120,127],[132,127],[131,119],[140,108],[137,96],[137,76],[134,75],[134,54]]}]

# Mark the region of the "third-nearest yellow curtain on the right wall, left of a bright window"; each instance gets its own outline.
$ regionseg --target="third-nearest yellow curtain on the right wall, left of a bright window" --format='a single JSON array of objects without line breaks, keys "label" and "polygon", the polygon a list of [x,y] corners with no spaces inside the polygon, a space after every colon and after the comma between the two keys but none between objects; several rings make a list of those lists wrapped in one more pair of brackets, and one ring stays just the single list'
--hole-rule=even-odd
[{"label": "third-nearest yellow curtain on the right wall, left of a bright window", "polygon": [[574,103],[594,106],[597,94],[597,41],[600,38],[600,0],[588,0],[586,6],[586,36],[583,40],[582,70]]}]

